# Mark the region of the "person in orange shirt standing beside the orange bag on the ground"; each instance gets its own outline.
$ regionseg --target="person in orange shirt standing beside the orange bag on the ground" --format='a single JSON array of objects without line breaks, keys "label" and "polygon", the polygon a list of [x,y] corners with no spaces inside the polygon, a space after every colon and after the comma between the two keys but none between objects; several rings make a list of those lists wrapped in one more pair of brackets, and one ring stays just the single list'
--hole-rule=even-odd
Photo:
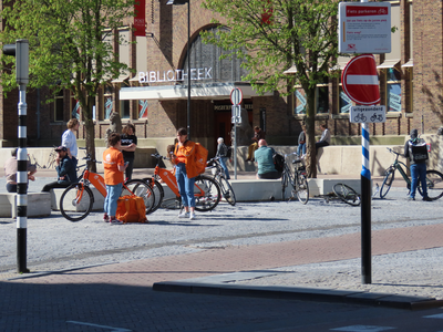
[{"label": "person in orange shirt standing beside the orange bag on the ground", "polygon": [[115,214],[117,210],[117,199],[123,188],[123,172],[126,169],[127,164],[124,163],[123,154],[120,152],[120,135],[112,133],[107,143],[110,147],[103,153],[104,183],[106,185],[103,220],[111,224],[123,224],[123,221],[115,218]]}]

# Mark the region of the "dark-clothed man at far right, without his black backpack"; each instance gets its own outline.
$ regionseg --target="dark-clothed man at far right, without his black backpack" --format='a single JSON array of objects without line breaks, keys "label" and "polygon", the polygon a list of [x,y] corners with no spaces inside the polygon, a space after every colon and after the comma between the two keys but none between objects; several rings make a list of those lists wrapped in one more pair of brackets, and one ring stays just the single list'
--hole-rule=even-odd
[{"label": "dark-clothed man at far right, without his black backpack", "polygon": [[404,144],[404,157],[410,159],[410,170],[411,170],[411,190],[409,194],[410,200],[415,200],[415,190],[419,185],[419,180],[422,184],[422,195],[423,200],[431,201],[432,199],[427,197],[427,185],[426,185],[426,160],[414,162],[410,155],[410,144],[416,144],[419,139],[419,131],[411,131],[411,139]]}]

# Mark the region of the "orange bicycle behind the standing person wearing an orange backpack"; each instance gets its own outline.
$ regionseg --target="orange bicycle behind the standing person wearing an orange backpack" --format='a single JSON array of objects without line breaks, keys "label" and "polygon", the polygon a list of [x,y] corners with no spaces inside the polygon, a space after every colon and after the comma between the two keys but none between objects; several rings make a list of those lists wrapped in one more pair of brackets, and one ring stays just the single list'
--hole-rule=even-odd
[{"label": "orange bicycle behind the standing person wearing an orange backpack", "polygon": [[[154,176],[144,178],[150,187],[153,188],[154,195],[156,196],[155,204],[150,212],[157,210],[159,207],[166,209],[182,209],[182,198],[174,174],[166,168],[159,167],[159,160],[167,158],[159,154],[152,154],[151,156],[156,158],[157,163],[154,168]],[[175,197],[164,199],[164,189],[158,179],[162,179],[169,187]],[[200,174],[195,178],[194,197],[195,209],[197,211],[210,211],[220,201],[220,188],[212,177]]]}]

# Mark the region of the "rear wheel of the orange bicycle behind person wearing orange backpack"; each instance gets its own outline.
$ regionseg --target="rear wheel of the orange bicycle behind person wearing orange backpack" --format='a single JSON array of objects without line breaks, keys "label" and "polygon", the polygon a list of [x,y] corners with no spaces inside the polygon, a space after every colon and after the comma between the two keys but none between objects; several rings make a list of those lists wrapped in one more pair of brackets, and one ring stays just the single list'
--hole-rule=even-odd
[{"label": "rear wheel of the orange bicycle behind person wearing orange backpack", "polygon": [[220,201],[220,188],[212,177],[199,175],[195,178],[194,197],[197,211],[210,211]]}]

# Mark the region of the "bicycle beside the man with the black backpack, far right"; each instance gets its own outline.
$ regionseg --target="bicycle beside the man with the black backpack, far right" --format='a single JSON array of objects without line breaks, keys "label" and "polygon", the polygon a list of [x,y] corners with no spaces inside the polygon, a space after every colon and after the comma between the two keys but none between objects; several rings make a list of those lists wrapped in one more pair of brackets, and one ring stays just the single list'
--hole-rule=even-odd
[{"label": "bicycle beside the man with the black backpack, far right", "polygon": [[[401,155],[398,152],[394,152],[392,148],[387,147],[387,149],[396,155],[395,160],[391,166],[388,167],[385,170],[385,176],[383,183],[380,187],[380,198],[384,198],[389,189],[391,189],[392,183],[394,181],[395,170],[398,169],[403,177],[404,181],[406,183],[408,189],[411,191],[411,179],[409,178],[406,170],[408,166],[403,162],[399,160],[399,156]],[[436,200],[443,196],[443,174],[437,170],[426,170],[426,186],[427,186],[427,196],[432,200]],[[420,195],[423,196],[421,184],[419,183],[418,186]],[[409,194],[409,193],[408,193]]]}]

